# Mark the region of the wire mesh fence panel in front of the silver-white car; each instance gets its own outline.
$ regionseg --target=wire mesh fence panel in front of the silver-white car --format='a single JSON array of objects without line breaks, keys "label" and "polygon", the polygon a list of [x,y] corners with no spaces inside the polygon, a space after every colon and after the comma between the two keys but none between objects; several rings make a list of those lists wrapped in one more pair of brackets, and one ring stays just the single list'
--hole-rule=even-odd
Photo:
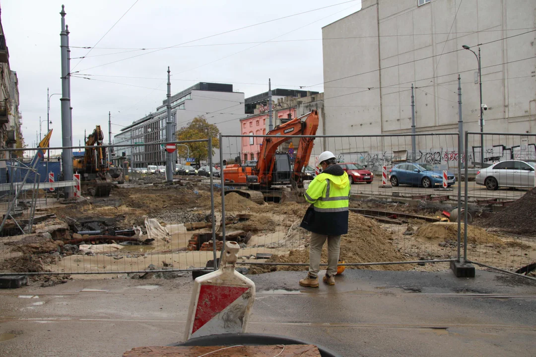
[{"label": "wire mesh fence panel in front of the silver-white car", "polygon": [[536,135],[470,132],[466,142],[467,259],[534,275]]}]

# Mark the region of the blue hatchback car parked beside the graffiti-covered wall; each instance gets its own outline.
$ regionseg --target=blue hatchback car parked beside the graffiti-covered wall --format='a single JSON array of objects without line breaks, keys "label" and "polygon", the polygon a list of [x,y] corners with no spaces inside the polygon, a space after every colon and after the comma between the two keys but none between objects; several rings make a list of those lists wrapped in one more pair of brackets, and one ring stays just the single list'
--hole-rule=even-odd
[{"label": "blue hatchback car parked beside the graffiti-covered wall", "polygon": [[[398,164],[390,170],[391,185],[412,185],[424,188],[442,187],[443,170],[434,170],[430,164]],[[447,185],[450,187],[456,183],[456,177],[447,171]]]}]

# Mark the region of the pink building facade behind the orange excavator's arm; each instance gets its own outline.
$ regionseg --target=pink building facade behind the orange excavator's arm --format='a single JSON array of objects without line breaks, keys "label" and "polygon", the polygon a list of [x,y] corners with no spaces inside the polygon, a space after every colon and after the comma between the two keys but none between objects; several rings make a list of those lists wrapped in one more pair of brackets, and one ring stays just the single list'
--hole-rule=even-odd
[{"label": "pink building facade behind the orange excavator's arm", "polygon": [[[274,110],[274,127],[281,123],[285,123],[296,117],[296,109],[289,108],[283,110]],[[258,113],[240,119],[240,127],[242,135],[265,135],[268,131],[269,119],[268,113]],[[242,138],[242,153],[241,158],[245,161],[258,160],[260,145],[263,138]]]}]

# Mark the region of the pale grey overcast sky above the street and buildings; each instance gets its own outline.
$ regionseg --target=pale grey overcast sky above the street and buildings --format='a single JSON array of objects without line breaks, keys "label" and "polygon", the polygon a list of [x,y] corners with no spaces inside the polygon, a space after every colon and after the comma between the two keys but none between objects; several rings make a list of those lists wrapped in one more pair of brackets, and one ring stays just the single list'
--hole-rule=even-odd
[{"label": "pale grey overcast sky above the street and buildings", "polygon": [[[345,1],[3,0],[2,26],[11,70],[19,78],[26,143],[36,140],[39,117],[46,120],[47,87],[50,94],[61,93],[62,3],[70,31],[71,72],[92,74],[83,76],[92,80],[71,80],[73,145],[78,145],[84,129],[91,133],[96,124],[105,130],[107,141],[108,111],[115,124],[113,134],[154,111],[166,97],[168,65],[172,95],[199,81],[232,83],[245,97],[268,90],[269,78],[272,88],[298,89],[322,82],[322,27],[361,8],[360,0],[340,4]],[[340,5],[189,42],[334,4]],[[89,54],[88,49],[75,48],[93,47],[131,6]],[[148,53],[184,42],[189,43]],[[147,50],[139,50],[143,48]],[[125,59],[137,55],[142,56]],[[59,97],[50,101],[51,146],[61,146]],[[44,121],[43,135],[46,125]]]}]

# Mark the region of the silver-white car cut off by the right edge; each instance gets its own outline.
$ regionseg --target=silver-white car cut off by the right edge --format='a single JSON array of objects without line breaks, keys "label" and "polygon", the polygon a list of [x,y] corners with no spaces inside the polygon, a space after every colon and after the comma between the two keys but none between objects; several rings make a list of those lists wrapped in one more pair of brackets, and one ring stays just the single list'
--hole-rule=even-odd
[{"label": "silver-white car cut off by the right edge", "polygon": [[536,163],[519,160],[501,161],[477,172],[478,185],[495,191],[499,187],[533,188]]}]

